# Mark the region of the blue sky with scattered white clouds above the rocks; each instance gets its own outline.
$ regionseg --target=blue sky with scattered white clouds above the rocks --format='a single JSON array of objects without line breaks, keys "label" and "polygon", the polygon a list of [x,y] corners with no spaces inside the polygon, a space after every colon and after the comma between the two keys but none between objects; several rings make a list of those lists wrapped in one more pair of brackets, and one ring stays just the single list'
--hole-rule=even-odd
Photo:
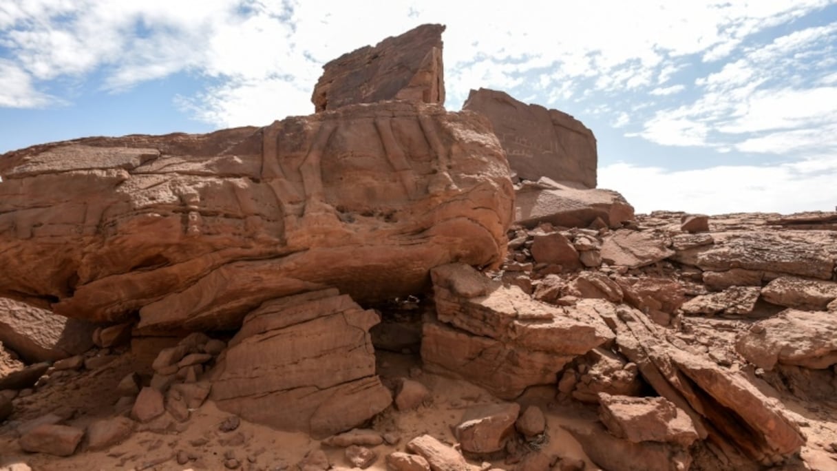
[{"label": "blue sky with scattered white clouds above the rocks", "polygon": [[0,153],[310,114],[322,64],[420,23],[449,110],[576,116],[639,212],[837,205],[837,0],[0,0]]}]

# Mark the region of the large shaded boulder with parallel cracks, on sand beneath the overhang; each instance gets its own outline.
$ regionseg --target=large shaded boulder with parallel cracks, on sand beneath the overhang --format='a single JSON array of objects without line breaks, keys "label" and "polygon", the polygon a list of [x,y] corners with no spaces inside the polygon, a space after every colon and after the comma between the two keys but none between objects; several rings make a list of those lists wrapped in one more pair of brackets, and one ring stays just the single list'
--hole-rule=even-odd
[{"label": "large shaded boulder with parallel cracks, on sand beneath the overhang", "polygon": [[392,402],[368,332],[379,320],[336,289],[268,301],[230,340],[212,398],[251,422],[315,437],[357,427]]}]

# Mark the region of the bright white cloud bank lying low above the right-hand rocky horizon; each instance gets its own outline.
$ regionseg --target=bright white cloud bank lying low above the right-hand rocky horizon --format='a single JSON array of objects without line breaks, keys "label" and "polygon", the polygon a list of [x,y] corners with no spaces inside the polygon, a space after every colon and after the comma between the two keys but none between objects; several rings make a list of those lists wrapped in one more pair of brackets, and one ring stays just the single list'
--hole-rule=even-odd
[{"label": "bright white cloud bank lying low above the right-hand rocky horizon", "polygon": [[616,163],[598,169],[601,188],[618,189],[639,213],[794,213],[834,210],[837,156],[803,164],[670,171]]}]

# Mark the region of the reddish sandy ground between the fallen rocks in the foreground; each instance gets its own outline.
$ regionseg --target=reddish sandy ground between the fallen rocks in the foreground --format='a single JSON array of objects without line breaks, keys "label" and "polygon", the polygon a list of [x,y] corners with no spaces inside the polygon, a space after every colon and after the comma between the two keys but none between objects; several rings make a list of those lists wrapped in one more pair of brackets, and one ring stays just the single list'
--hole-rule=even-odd
[{"label": "reddish sandy ground between the fallen rocks in the foreground", "polygon": [[[385,470],[384,457],[394,451],[404,451],[406,443],[413,437],[428,433],[444,443],[455,443],[451,432],[470,406],[497,401],[487,391],[461,380],[452,380],[439,375],[420,373],[415,375],[420,360],[415,355],[397,355],[378,352],[378,373],[384,380],[408,376],[413,369],[413,379],[428,386],[433,393],[432,403],[413,411],[397,411],[394,408],[379,415],[371,424],[379,432],[395,432],[400,440],[393,446],[379,445],[373,450],[377,462],[372,470]],[[219,411],[212,401],[192,412],[187,422],[173,422],[168,415],[145,425],[138,425],[136,431],[123,443],[104,451],[90,451],[82,442],[80,450],[69,458],[58,458],[43,453],[25,453],[18,447],[15,428],[50,412],[71,416],[68,425],[86,427],[101,418],[113,417],[116,384],[122,377],[137,370],[137,361],[130,353],[100,370],[80,373],[55,374],[39,386],[31,396],[18,397],[14,401],[15,411],[0,427],[0,464],[27,463],[35,471],[64,470],[183,470],[225,469],[224,461],[235,458],[240,469],[274,470],[295,469],[311,450],[322,449],[333,466],[349,463],[343,448],[331,448],[305,433],[280,432],[269,427],[241,421],[233,432],[222,432],[218,426],[229,413]],[[141,368],[139,368],[141,370]],[[521,397],[521,406],[530,404],[542,407],[547,416],[547,435],[542,443],[533,445],[544,453],[561,457],[581,458],[587,462],[587,469],[598,469],[584,455],[578,442],[562,429],[562,424],[590,420],[590,411],[579,415],[573,408],[558,406],[552,387],[534,388]],[[277,406],[292,406],[277,405]],[[587,418],[583,418],[586,416]],[[178,464],[177,454],[185,452],[190,459]],[[181,453],[183,456],[183,453]],[[476,465],[482,462],[472,461]],[[491,462],[496,468],[510,468],[503,461]]]}]

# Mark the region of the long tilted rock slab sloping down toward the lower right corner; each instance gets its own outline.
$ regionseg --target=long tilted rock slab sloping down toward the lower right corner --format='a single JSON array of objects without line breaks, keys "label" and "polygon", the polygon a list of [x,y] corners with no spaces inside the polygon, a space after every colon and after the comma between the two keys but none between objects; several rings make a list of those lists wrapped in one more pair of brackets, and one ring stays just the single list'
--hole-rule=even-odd
[{"label": "long tilted rock slab sloping down toward the lower right corner", "polygon": [[798,453],[804,437],[778,401],[740,373],[671,344],[660,327],[634,309],[603,313],[616,330],[619,351],[660,396],[686,411],[698,435],[733,462],[740,451],[763,464]]}]

